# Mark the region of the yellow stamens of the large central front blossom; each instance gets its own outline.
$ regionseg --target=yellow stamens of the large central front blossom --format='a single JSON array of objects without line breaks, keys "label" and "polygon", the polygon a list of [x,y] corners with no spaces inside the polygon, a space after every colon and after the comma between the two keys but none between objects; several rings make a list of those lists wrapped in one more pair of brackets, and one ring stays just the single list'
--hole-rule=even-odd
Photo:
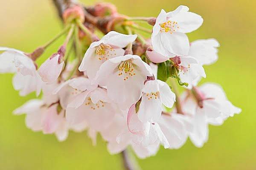
[{"label": "yellow stamens of the large central front blossom", "polygon": [[124,81],[129,77],[133,77],[135,75],[134,67],[132,65],[131,59],[126,61],[122,61],[119,65],[118,76],[124,76]]}]

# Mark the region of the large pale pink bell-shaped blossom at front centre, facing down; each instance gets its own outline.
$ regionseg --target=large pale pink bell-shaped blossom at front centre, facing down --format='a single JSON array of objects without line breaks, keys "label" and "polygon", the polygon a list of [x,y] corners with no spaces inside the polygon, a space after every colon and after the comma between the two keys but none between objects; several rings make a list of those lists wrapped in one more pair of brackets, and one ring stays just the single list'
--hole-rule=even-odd
[{"label": "large pale pink bell-shaped blossom at front centre, facing down", "polygon": [[127,109],[140,99],[144,81],[152,75],[150,66],[139,56],[127,54],[104,62],[93,83],[106,86],[109,98]]}]

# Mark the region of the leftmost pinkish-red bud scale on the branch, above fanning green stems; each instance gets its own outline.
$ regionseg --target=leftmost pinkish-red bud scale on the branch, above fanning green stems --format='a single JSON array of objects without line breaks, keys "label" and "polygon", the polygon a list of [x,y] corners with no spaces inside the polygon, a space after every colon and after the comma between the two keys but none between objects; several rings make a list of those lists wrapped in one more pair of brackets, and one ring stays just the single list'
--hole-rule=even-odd
[{"label": "leftmost pinkish-red bud scale on the branch, above fanning green stems", "polygon": [[71,21],[78,19],[82,23],[84,22],[84,9],[81,6],[72,6],[67,8],[63,14],[62,18],[65,23],[70,23]]}]

